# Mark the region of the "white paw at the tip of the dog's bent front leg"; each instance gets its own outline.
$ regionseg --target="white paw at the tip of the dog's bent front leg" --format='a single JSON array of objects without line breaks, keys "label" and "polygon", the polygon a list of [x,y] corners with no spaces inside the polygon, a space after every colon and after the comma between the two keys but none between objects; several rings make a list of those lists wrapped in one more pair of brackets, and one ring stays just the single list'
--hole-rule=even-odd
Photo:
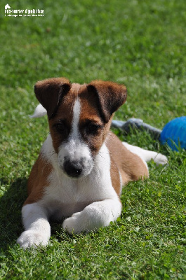
[{"label": "white paw at the tip of the dog's bent front leg", "polygon": [[62,228],[69,233],[80,233],[82,231],[80,215],[80,212],[77,212],[73,214],[72,217],[66,218],[62,223]]}]

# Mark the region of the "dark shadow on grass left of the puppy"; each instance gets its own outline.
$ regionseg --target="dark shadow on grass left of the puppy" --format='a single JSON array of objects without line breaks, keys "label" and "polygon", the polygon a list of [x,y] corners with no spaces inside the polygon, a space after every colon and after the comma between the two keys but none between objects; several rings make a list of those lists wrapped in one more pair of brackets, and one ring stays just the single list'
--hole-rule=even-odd
[{"label": "dark shadow on grass left of the puppy", "polygon": [[[0,179],[1,186],[8,185],[4,178]],[[6,249],[14,245],[22,232],[21,208],[27,196],[27,179],[18,178],[0,198],[0,248]]]}]

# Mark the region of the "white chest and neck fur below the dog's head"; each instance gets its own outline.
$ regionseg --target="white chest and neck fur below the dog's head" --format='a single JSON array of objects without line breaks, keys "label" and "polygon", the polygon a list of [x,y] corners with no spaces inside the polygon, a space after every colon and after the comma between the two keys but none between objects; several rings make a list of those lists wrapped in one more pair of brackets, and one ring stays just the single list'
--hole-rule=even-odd
[{"label": "white chest and neck fur below the dog's head", "polygon": [[55,165],[48,177],[51,183],[45,188],[44,197],[39,202],[46,206],[51,216],[59,219],[71,216],[92,202],[117,196],[112,187],[107,147],[103,145],[100,152],[101,156],[95,158],[91,174],[82,179],[67,178]]}]

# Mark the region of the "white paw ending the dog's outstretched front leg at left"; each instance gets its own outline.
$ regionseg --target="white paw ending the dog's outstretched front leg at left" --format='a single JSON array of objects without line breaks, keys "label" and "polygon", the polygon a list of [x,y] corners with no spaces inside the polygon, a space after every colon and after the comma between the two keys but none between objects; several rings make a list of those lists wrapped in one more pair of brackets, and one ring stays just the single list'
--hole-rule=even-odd
[{"label": "white paw ending the dog's outstretched front leg at left", "polygon": [[39,245],[46,246],[48,244],[48,236],[33,230],[26,230],[22,232],[17,242],[24,249],[30,247],[36,248]]}]

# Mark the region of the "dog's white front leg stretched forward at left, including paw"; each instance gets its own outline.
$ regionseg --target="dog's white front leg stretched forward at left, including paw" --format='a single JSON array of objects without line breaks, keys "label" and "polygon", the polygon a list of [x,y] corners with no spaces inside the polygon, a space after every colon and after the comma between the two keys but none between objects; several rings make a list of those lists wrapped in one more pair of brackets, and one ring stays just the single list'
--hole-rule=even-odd
[{"label": "dog's white front leg stretched forward at left, including paw", "polygon": [[51,236],[47,212],[38,203],[22,207],[22,222],[25,232],[22,232],[17,242],[22,248],[46,246]]}]

